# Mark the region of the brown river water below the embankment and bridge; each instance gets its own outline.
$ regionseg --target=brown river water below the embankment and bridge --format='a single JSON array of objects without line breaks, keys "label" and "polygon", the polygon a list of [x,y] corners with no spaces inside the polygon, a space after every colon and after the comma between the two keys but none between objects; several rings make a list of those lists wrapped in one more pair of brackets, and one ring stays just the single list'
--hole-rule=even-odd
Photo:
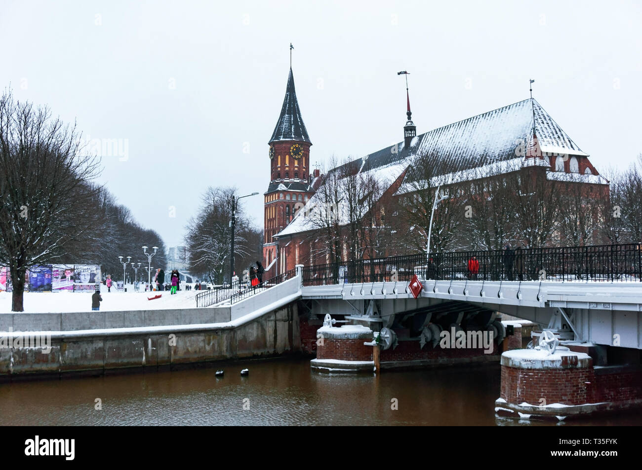
[{"label": "brown river water below the embankment and bridge", "polygon": [[[223,378],[214,376],[219,368]],[[216,369],[2,383],[0,425],[551,425],[495,416],[499,364],[379,376],[312,373],[302,358]],[[561,425],[640,423],[636,412]]]}]

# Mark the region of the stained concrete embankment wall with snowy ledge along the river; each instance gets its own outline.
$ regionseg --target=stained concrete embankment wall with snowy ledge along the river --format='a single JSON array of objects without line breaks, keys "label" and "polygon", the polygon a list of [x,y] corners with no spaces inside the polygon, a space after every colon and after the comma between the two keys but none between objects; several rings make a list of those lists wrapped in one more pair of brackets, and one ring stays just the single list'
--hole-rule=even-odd
[{"label": "stained concrete embankment wall with snowy ledge along the river", "polygon": [[[39,315],[37,317],[33,315]],[[42,316],[44,315],[44,316]],[[100,375],[114,369],[159,367],[300,351],[297,303],[230,322],[230,308],[3,314],[0,335],[51,335],[42,347],[0,348],[0,380],[40,375]],[[222,320],[222,321],[221,321]],[[11,324],[9,324],[11,322]],[[39,328],[35,328],[39,326]],[[37,330],[37,331],[35,331]],[[24,346],[24,344],[22,345]]]}]

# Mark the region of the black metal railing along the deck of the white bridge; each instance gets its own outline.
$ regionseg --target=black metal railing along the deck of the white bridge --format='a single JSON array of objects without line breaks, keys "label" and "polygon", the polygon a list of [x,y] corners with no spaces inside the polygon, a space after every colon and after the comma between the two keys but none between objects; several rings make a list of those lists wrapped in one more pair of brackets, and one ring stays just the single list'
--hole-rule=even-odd
[{"label": "black metal railing along the deck of the white bridge", "polygon": [[303,285],[422,280],[642,281],[642,244],[453,251],[303,268]]}]

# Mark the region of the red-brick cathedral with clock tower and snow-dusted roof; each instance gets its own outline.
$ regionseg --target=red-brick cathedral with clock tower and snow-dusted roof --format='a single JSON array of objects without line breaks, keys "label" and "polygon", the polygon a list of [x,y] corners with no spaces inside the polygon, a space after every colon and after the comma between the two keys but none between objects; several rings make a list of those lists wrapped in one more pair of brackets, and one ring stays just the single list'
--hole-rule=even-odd
[{"label": "red-brick cathedral with clock tower and snow-dusted roof", "polygon": [[[417,156],[430,153],[452,163],[456,171],[444,175],[451,181],[476,179],[469,176],[471,169],[480,170],[479,174],[484,169],[500,169],[501,176],[522,167],[539,167],[546,172],[547,180],[580,184],[591,198],[609,197],[609,181],[591,164],[589,154],[532,97],[421,135],[417,135],[411,119],[407,88],[406,98],[403,140],[345,164],[354,167],[356,173],[372,172],[377,180],[385,182],[385,194],[412,199],[413,191],[405,184],[406,174]],[[308,212],[318,204],[314,194],[323,184],[323,177],[311,169],[312,142],[303,123],[291,68],[281,114],[268,145],[270,184],[265,192],[264,279],[293,269],[296,264],[329,262],[325,255],[313,255],[320,253],[318,243],[323,235],[317,233],[309,217],[306,219],[306,211],[299,211],[309,199]],[[520,153],[520,146],[528,151]],[[445,187],[448,184],[442,183]]]}]

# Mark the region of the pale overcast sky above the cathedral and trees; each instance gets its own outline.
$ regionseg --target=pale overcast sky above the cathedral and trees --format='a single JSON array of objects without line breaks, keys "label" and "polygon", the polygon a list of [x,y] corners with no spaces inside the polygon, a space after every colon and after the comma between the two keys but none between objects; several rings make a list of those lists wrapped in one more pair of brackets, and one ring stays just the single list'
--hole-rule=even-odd
[{"label": "pale overcast sky above the cathedral and trees", "polygon": [[[120,139],[100,181],[168,247],[208,185],[267,189],[290,42],[313,164],[403,140],[402,70],[417,134],[526,99],[533,78],[598,171],[642,152],[641,2],[0,3],[0,85]],[[263,227],[263,196],[243,201]]]}]

